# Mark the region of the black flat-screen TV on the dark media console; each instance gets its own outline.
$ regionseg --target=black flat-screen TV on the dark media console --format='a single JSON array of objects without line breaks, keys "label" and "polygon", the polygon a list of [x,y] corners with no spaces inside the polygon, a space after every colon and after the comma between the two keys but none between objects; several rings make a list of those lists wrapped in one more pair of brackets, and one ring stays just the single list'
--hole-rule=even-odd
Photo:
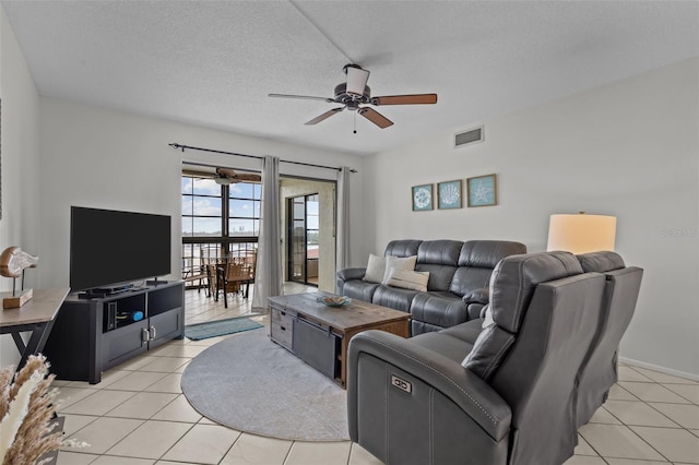
[{"label": "black flat-screen TV on the dark media console", "polygon": [[71,206],[72,291],[169,273],[169,216]]}]

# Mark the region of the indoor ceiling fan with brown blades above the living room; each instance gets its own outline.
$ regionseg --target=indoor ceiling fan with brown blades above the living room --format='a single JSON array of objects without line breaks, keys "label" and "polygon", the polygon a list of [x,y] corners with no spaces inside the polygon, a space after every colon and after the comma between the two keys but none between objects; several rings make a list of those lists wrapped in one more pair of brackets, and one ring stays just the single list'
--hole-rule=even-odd
[{"label": "indoor ceiling fan with brown blades above the living room", "polygon": [[[303,98],[308,100],[323,100],[329,104],[342,104],[342,107],[336,107],[325,111],[324,114],[311,119],[306,124],[317,124],[331,116],[339,114],[344,109],[356,111],[381,129],[386,129],[393,124],[393,121],[378,112],[371,107],[365,105],[426,105],[436,104],[437,94],[412,94],[412,95],[387,95],[382,97],[372,97],[371,90],[367,85],[369,80],[369,71],[363,69],[358,64],[345,64],[343,68],[347,74],[347,82],[341,83],[335,86],[335,96],[330,97],[313,97],[309,95],[288,95],[288,94],[270,94],[270,97],[281,98]],[[356,131],[355,131],[356,132]]]}]

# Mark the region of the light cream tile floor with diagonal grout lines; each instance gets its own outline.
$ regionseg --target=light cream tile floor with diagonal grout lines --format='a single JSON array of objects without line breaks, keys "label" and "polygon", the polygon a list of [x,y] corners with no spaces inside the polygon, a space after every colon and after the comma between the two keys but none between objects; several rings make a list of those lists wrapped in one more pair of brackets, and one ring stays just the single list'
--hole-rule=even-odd
[{"label": "light cream tile floor with diagonal grout lines", "polygon": [[[291,285],[286,294],[315,290]],[[234,297],[228,309],[204,291],[187,290],[186,322],[248,314]],[[264,322],[265,317],[251,315]],[[228,337],[235,337],[228,336]],[[56,381],[64,431],[91,444],[63,449],[60,465],[380,464],[351,442],[299,442],[236,431],[199,415],[180,390],[187,363],[222,341],[171,341],[104,373],[99,384]],[[580,428],[565,465],[699,464],[699,382],[632,366],[592,420]]]}]

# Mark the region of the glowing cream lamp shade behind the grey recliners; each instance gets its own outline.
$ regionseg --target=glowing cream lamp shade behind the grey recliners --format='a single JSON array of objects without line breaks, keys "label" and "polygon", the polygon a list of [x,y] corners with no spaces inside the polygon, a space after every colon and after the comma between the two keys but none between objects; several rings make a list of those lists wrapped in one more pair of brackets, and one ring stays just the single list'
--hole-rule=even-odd
[{"label": "glowing cream lamp shade behind the grey recliners", "polygon": [[566,250],[571,253],[614,250],[616,216],[550,215],[546,250]]}]

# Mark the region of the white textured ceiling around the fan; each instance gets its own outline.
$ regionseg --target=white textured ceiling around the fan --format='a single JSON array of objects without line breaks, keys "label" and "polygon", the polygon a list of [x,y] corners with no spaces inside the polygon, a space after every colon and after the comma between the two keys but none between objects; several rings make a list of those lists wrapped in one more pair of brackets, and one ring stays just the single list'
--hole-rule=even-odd
[{"label": "white textured ceiling around the fan", "polygon": [[[699,56],[696,1],[2,1],[42,95],[357,154]],[[378,129],[333,104],[353,61]],[[187,141],[178,141],[187,143]],[[222,148],[222,147],[218,147]],[[235,147],[223,147],[235,150]]]}]

